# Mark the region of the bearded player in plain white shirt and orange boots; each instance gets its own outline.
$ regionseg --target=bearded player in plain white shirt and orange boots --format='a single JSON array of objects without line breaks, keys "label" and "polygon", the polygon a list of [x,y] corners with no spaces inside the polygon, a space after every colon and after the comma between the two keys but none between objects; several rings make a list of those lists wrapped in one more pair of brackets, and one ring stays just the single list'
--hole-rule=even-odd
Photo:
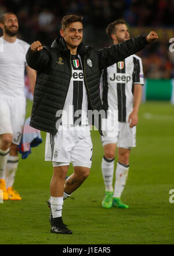
[{"label": "bearded player in plain white shirt and orange boots", "polygon": [[3,200],[21,200],[13,189],[18,165],[17,145],[20,144],[26,115],[24,97],[24,69],[26,67],[32,91],[36,72],[26,66],[26,52],[30,46],[17,38],[19,28],[14,13],[1,16],[0,27],[0,189]]}]

